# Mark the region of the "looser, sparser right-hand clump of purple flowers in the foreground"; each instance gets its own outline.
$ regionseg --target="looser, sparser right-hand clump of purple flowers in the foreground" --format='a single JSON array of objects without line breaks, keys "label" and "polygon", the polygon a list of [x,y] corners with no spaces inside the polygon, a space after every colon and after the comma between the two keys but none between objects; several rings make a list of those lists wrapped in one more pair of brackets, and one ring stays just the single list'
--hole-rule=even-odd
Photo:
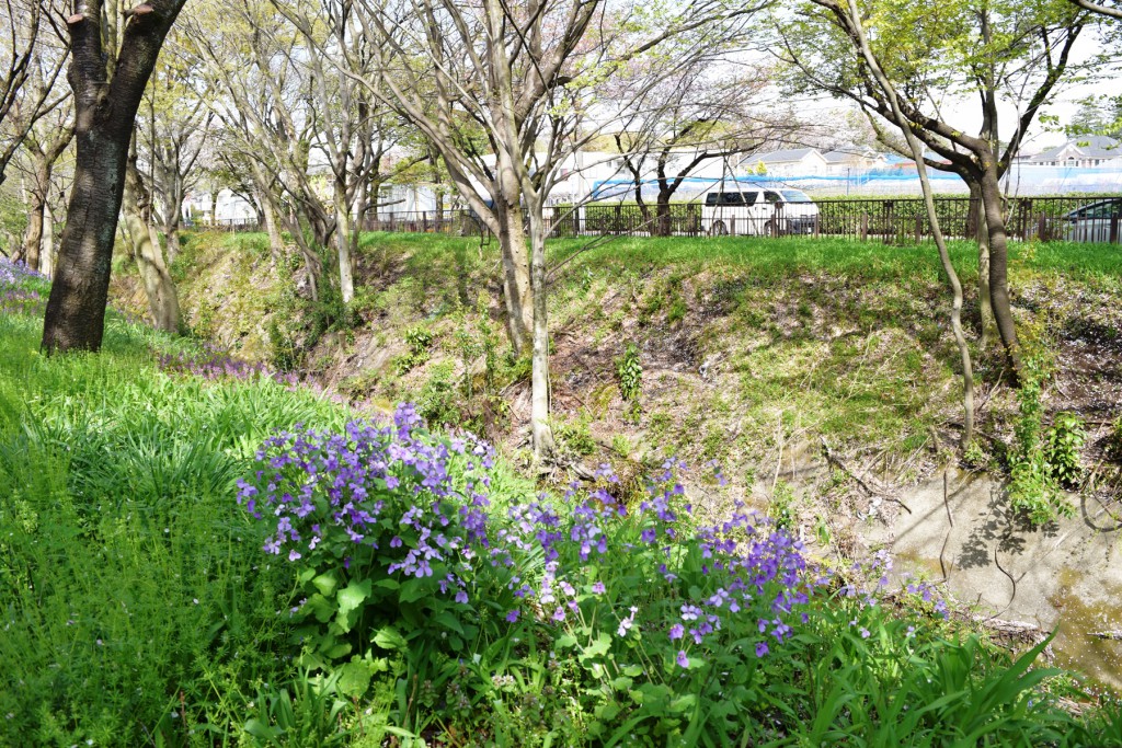
[{"label": "looser, sparser right-hand clump of purple flowers in the foreground", "polygon": [[[606,592],[604,581],[588,579],[589,570],[603,567],[607,575],[627,575],[632,570],[624,560],[637,558],[644,550],[662,562],[652,567],[654,573],[642,590],[629,593],[631,599],[681,599],[683,590],[689,595],[691,587],[683,576],[690,573],[684,566],[692,548],[700,556],[702,584],[708,591],[697,599],[684,599],[670,618],[664,607],[661,612],[651,607],[650,618],[637,620],[638,606],[627,608],[629,615],[617,619],[617,638],[638,628],[661,628],[671,641],[688,644],[688,649],[719,636],[730,618],[760,610],[769,616],[761,619],[762,635],[775,644],[790,638],[791,616],[808,603],[821,583],[810,573],[802,544],[784,532],[771,532],[766,519],[748,515],[739,504],[733,517],[719,526],[691,527],[691,508],[680,481],[684,470],[683,463],[668,460],[649,481],[647,496],[634,516],[605,490],[617,481],[607,468],[597,471],[598,486],[583,501],[578,500],[577,487],[570,488],[564,496],[568,511],[559,511],[545,497],[512,507],[508,525],[496,534],[493,563],[513,565],[517,553],[537,551],[548,563],[537,584],[514,579],[511,589],[521,607],[511,611],[508,620],[531,612],[539,619],[565,621],[580,610],[580,600],[595,600]],[[638,543],[622,539],[634,537],[619,532],[625,524],[637,533]],[[559,560],[568,560],[570,567],[563,569]],[[578,595],[577,589],[588,594]],[[679,664],[687,649],[681,650]],[[756,647],[758,656],[767,650],[763,641]]]}]

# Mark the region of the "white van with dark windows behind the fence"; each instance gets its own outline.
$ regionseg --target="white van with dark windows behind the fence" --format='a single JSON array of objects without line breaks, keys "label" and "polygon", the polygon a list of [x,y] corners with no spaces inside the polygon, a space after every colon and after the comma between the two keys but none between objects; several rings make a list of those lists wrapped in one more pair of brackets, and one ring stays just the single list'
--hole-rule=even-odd
[{"label": "white van with dark windows behind the fence", "polygon": [[818,222],[818,206],[799,190],[718,185],[703,197],[701,230],[714,237],[813,233]]}]

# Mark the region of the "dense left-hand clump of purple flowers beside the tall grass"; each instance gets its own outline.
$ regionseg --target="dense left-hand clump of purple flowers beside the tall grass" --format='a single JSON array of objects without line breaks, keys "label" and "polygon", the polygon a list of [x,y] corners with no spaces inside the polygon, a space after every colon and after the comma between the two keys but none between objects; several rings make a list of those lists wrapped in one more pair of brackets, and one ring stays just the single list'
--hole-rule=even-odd
[{"label": "dense left-hand clump of purple flowers beside the tall grass", "polygon": [[342,434],[282,432],[257,461],[254,479],[238,481],[238,502],[273,527],[266,553],[313,566],[342,558],[349,570],[377,551],[386,574],[434,578],[468,601],[470,563],[487,546],[489,445],[433,436],[401,405],[388,423],[352,421]]}]

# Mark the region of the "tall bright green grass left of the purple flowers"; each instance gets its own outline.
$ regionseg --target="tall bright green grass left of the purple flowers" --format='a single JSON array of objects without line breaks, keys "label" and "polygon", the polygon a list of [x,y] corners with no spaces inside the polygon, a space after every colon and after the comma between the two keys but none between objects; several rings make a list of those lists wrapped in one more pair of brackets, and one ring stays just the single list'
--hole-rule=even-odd
[{"label": "tall bright green grass left of the purple flowers", "polygon": [[232,481],[275,427],[344,414],[173,380],[119,320],[100,355],[38,338],[0,318],[0,745],[236,745],[242,694],[289,674],[293,580]]}]

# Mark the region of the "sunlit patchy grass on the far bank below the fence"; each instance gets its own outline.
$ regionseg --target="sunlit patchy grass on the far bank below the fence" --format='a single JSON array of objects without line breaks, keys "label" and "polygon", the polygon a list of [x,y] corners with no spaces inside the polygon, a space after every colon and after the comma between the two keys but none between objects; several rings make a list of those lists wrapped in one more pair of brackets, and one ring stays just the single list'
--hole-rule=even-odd
[{"label": "sunlit patchy grass on the far bank below the fence", "polygon": [[[557,268],[550,314],[553,377],[561,382],[559,422],[586,423],[601,450],[622,434],[636,456],[653,459],[656,451],[672,449],[743,472],[774,460],[780,442],[817,443],[822,436],[852,450],[850,456],[885,452],[891,471],[893,464],[916,464],[920,450],[930,452],[938,443],[932,430],[946,433],[948,424],[960,421],[959,362],[947,333],[949,294],[932,244],[622,237],[581,251],[591,240],[550,242]],[[322,313],[305,314],[302,329],[298,303],[276,301],[283,281],[274,278],[260,287],[254,280],[269,276],[264,241],[264,234],[223,234],[188,243],[182,267],[232,268],[200,274],[186,287],[194,326],[220,330],[218,336],[243,354],[268,358],[276,341],[266,340],[264,331],[269,320],[280,320],[277,340],[286,351],[301,351],[298,366],[342,379],[352,396],[379,403],[423,399],[434,417],[465,418],[499,441],[511,436],[507,426],[517,426],[517,418],[480,400],[481,382],[469,382],[462,373],[462,351],[480,349],[479,340],[469,340],[478,338],[480,296],[502,338],[494,240],[364,234],[356,258],[359,324],[319,344],[312,343],[321,338]],[[976,249],[955,241],[950,252],[973,331]],[[214,289],[229,273],[219,303]],[[1052,301],[1087,292],[1116,296],[1122,252],[1106,246],[1014,243],[1010,275],[1018,323],[1047,347],[1084,311],[1057,313],[1041,308],[1039,298],[1055,306]],[[434,336],[426,360],[396,366],[410,353],[406,333],[419,327]],[[629,344],[641,349],[646,370],[637,409],[619,396],[614,364]],[[971,345],[980,384],[995,384],[1000,357],[983,351],[973,333]],[[496,391],[516,385],[526,371],[503,349],[500,340],[496,363],[487,369]],[[339,363],[370,350],[388,355],[373,366]],[[702,369],[705,376],[698,376]],[[567,387],[570,377],[587,384]],[[1006,399],[991,404],[997,422],[1014,412]],[[656,414],[672,415],[671,426],[656,423]],[[792,416],[797,424],[785,432],[776,427]],[[697,438],[689,425],[702,419],[708,427]],[[954,435],[944,438],[953,442]]]}]

